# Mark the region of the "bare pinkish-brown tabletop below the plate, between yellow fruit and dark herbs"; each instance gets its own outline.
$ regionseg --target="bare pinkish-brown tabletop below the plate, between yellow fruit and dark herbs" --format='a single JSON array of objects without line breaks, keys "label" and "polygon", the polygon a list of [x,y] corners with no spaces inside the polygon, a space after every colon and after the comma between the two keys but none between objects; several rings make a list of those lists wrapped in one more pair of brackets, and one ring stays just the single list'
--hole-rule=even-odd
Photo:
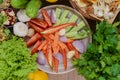
[{"label": "bare pinkish-brown tabletop below the plate, between yellow fruit and dark herbs", "polygon": [[76,70],[67,74],[49,74],[49,80],[85,80],[84,77],[78,76]]}]

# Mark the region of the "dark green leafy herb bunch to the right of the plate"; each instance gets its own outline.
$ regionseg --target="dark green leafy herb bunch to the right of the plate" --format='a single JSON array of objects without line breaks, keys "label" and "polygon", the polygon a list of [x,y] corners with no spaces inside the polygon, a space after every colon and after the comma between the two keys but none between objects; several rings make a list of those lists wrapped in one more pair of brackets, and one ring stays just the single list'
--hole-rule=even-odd
[{"label": "dark green leafy herb bunch to the right of the plate", "polygon": [[86,80],[120,80],[118,24],[106,21],[97,24],[86,53],[81,59],[74,59],[74,67]]}]

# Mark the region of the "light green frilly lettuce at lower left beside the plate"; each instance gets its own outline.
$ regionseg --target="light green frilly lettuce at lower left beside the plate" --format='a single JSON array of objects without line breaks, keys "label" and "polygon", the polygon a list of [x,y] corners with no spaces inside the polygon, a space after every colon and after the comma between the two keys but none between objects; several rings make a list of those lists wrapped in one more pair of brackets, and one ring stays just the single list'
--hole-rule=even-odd
[{"label": "light green frilly lettuce at lower left beside the plate", "polygon": [[13,36],[0,43],[0,80],[28,80],[37,69],[36,55],[31,56],[22,38]]}]

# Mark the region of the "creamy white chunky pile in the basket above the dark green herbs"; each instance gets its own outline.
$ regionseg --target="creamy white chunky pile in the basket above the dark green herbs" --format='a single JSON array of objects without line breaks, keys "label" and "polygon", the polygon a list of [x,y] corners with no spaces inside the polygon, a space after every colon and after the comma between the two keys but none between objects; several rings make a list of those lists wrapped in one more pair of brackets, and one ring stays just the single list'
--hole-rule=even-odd
[{"label": "creamy white chunky pile in the basket above the dark green herbs", "polygon": [[104,19],[111,19],[114,13],[110,11],[110,5],[108,3],[113,0],[99,0],[96,4],[93,4],[94,14],[98,17],[103,17]]}]

